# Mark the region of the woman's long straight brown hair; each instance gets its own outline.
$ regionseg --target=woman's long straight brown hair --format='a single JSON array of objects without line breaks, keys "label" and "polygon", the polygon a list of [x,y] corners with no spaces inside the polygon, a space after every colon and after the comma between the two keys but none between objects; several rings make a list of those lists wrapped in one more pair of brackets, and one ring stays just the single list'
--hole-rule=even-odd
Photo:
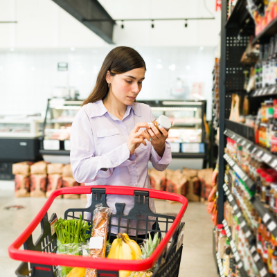
[{"label": "woman's long straight brown hair", "polygon": [[98,73],[96,85],[93,91],[91,91],[89,97],[84,100],[82,106],[88,103],[96,102],[107,96],[109,91],[106,80],[107,71],[110,72],[111,76],[114,76],[116,74],[122,74],[132,69],[139,69],[141,67],[144,67],[146,72],[146,65],[143,57],[141,57],[141,55],[139,55],[139,53],[133,48],[118,46],[112,49],[107,57],[105,57]]}]

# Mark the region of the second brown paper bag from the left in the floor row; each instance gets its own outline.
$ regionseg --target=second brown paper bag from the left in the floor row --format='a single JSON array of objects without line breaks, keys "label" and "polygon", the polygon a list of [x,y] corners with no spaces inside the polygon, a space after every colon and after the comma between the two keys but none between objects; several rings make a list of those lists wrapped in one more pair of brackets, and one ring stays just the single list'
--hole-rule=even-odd
[{"label": "second brown paper bag from the left in the floor row", "polygon": [[47,163],[38,161],[30,166],[30,197],[45,197],[47,187]]}]

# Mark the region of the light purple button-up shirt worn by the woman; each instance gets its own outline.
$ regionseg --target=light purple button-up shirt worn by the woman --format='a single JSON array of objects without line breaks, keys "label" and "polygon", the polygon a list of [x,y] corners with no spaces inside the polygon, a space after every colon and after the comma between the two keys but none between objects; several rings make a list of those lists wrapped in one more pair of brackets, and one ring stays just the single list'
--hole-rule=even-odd
[{"label": "light purple button-up shirt worn by the woman", "polygon": [[[71,127],[70,159],[74,179],[87,186],[151,188],[148,161],[152,162],[155,169],[165,170],[172,159],[170,144],[166,142],[163,157],[159,157],[147,140],[146,146],[141,143],[134,154],[130,155],[127,140],[136,123],[149,123],[153,120],[150,107],[138,102],[127,106],[123,120],[110,114],[102,100],[84,105]],[[87,195],[87,200],[89,206],[91,195]],[[116,213],[116,202],[125,203],[124,213],[127,214],[134,206],[134,197],[107,195],[107,205],[113,209],[113,213]],[[154,199],[150,199],[150,208],[155,211]],[[112,224],[117,224],[116,219]],[[151,229],[152,224],[149,222],[148,229]],[[126,222],[120,222],[120,226],[126,226]],[[129,226],[135,227],[136,223],[129,222]],[[145,229],[145,224],[139,222],[139,228]],[[111,233],[118,233],[117,228],[112,227]],[[141,233],[143,231],[139,231]],[[135,235],[134,230],[129,231],[129,235]]]}]

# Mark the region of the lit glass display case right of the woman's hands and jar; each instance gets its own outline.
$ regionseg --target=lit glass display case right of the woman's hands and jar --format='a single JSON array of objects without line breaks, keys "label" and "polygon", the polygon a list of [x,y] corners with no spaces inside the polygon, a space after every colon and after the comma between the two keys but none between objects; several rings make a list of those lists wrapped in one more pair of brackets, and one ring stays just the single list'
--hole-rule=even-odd
[{"label": "lit glass display case right of the woman's hands and jar", "polygon": [[155,118],[162,114],[174,124],[168,134],[172,157],[206,157],[205,125],[206,100],[139,100],[149,105]]}]

